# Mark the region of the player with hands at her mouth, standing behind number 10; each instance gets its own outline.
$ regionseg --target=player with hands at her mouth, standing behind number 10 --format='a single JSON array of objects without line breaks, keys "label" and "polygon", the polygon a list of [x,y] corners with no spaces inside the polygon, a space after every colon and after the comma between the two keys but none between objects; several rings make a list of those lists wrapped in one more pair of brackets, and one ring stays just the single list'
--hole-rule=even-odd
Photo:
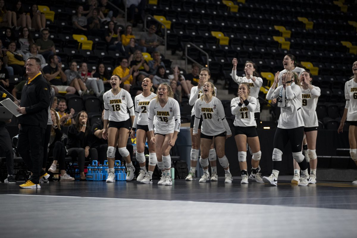
[{"label": "player with hands at her mouth, standing behind number 10", "polygon": [[[203,68],[200,70],[200,79],[198,80],[198,85],[191,88],[190,100],[188,103],[193,106],[191,110],[191,125],[190,125],[190,132],[191,132],[191,168],[188,172],[186,177],[186,181],[196,180],[196,166],[198,161],[198,153],[200,152],[200,135],[201,135],[201,124],[202,118],[198,125],[198,136],[193,136],[193,123],[195,122],[195,102],[198,98],[203,95],[203,85],[208,82],[208,79],[211,78],[211,72],[207,68]],[[217,88],[215,87],[215,94],[217,95]],[[212,140],[212,145],[210,147],[210,153],[208,155],[208,160],[211,164],[212,174],[211,174],[211,181],[218,181],[217,176],[217,155],[215,150],[215,143]]]}]

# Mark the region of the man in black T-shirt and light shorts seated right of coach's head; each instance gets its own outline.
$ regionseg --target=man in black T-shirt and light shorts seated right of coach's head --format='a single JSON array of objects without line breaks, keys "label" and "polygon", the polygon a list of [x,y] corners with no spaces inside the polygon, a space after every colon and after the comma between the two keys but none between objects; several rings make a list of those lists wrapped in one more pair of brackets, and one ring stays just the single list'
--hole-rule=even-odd
[{"label": "man in black T-shirt and light shorts seated right of coach's head", "polygon": [[52,85],[57,86],[58,90],[61,92],[66,92],[68,94],[76,93],[76,89],[71,86],[67,86],[67,77],[62,70],[62,64],[58,62],[57,55],[51,55],[49,57],[50,64],[43,68],[46,80]]}]

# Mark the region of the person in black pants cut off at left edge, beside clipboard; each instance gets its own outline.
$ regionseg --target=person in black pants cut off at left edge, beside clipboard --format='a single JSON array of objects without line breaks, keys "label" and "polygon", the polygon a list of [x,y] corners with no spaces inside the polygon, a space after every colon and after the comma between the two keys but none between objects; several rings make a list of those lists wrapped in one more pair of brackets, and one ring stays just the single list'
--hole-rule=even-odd
[{"label": "person in black pants cut off at left edge, beside clipboard", "polygon": [[[9,98],[6,93],[0,91],[0,101]],[[16,183],[14,178],[14,154],[12,153],[12,143],[9,131],[7,131],[6,123],[10,123],[9,121],[0,121],[0,147],[2,151],[5,153],[6,157],[6,167],[7,167],[7,182],[8,183]]]}]

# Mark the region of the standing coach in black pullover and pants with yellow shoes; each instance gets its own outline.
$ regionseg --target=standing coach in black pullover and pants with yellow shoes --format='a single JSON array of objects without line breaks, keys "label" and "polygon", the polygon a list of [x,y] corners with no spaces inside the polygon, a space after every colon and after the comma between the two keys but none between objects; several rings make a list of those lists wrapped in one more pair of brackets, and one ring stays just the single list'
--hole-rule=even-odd
[{"label": "standing coach in black pullover and pants with yellow shoes", "polygon": [[[41,61],[29,57],[26,62],[26,74],[29,79],[21,92],[19,116],[20,130],[17,151],[32,172],[30,179],[21,184],[21,188],[41,188],[43,137],[48,121],[50,105],[50,85],[40,72]],[[30,153],[31,151],[31,153]]]}]

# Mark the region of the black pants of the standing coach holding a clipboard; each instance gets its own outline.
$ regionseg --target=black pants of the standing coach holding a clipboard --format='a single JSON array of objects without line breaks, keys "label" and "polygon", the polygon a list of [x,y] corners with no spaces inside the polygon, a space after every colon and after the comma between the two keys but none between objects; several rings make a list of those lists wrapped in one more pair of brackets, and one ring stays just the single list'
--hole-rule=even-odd
[{"label": "black pants of the standing coach holding a clipboard", "polygon": [[29,168],[29,171],[32,172],[30,180],[35,184],[40,183],[45,130],[45,128],[41,128],[40,126],[24,124],[21,124],[19,130],[17,151],[19,151],[22,159]]}]

